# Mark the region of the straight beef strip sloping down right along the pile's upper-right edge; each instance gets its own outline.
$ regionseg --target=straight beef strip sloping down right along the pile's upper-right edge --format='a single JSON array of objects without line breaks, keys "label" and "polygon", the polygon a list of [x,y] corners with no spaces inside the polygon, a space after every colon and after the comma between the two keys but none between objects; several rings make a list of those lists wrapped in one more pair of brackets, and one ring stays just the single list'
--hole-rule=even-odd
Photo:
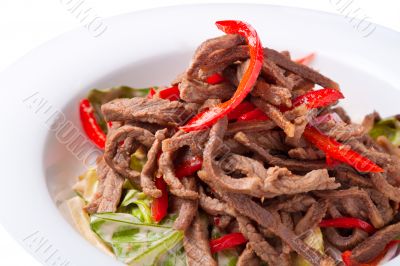
[{"label": "straight beef strip sloping down right along the pile's upper-right edge", "polygon": [[271,60],[278,66],[286,70],[289,70],[305,79],[308,79],[320,85],[321,87],[339,89],[339,85],[336,82],[318,73],[317,71],[309,68],[306,65],[298,64],[288,59],[286,56],[282,55],[281,53],[273,49],[264,48],[264,54],[268,60]]}]

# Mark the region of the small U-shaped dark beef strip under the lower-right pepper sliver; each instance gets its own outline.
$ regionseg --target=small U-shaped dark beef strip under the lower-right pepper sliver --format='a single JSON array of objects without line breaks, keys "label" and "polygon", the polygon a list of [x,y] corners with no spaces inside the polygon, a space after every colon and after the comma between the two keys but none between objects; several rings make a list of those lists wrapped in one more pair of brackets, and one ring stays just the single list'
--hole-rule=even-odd
[{"label": "small U-shaped dark beef strip under the lower-right pepper sliver", "polygon": [[368,237],[367,232],[358,228],[352,230],[348,236],[342,236],[336,228],[323,228],[322,232],[326,239],[340,251],[352,249]]}]

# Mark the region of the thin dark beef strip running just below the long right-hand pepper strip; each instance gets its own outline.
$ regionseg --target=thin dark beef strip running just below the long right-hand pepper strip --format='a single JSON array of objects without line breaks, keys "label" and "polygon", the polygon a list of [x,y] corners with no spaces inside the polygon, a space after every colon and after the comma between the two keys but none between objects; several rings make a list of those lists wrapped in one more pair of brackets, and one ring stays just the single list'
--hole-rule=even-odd
[{"label": "thin dark beef strip running just below the long right-hand pepper strip", "polygon": [[291,171],[312,171],[315,169],[324,169],[329,168],[324,161],[299,161],[287,158],[280,158],[274,155],[271,155],[267,150],[264,150],[256,143],[250,141],[247,135],[243,132],[238,132],[235,135],[235,140],[243,144],[249,150],[257,153],[261,156],[261,158],[270,165],[276,165],[279,167],[286,167]]}]

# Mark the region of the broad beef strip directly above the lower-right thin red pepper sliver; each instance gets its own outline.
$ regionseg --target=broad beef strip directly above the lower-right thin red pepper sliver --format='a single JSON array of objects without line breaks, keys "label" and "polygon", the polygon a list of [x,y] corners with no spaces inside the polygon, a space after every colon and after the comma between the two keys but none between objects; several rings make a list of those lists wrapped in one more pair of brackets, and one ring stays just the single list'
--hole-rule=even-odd
[{"label": "broad beef strip directly above the lower-right thin red pepper sliver", "polygon": [[314,194],[333,201],[338,208],[340,207],[351,217],[368,218],[375,228],[381,228],[384,225],[381,213],[364,190],[352,187],[346,190],[315,191]]}]

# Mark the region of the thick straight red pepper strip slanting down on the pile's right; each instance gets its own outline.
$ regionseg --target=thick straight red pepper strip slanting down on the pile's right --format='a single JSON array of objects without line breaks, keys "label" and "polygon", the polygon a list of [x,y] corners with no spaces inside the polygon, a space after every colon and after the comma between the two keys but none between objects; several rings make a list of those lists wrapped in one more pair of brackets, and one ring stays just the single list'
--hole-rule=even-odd
[{"label": "thick straight red pepper strip slanting down on the pile's right", "polygon": [[381,173],[384,171],[368,158],[353,151],[335,139],[322,134],[312,126],[307,126],[303,136],[310,143],[317,146],[318,149],[325,152],[331,159],[344,162],[354,167],[359,172]]}]

